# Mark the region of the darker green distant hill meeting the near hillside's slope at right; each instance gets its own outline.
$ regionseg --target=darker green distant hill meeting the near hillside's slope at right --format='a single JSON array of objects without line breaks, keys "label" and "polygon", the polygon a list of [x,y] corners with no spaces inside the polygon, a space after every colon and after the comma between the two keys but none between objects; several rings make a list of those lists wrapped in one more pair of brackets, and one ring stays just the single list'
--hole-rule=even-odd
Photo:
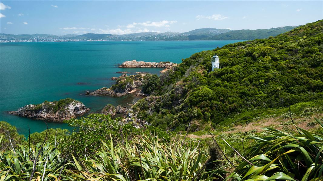
[{"label": "darker green distant hill meeting the near hillside's slope at right", "polygon": [[235,30],[212,37],[205,38],[205,40],[255,40],[263,39],[270,36],[277,36],[281,33],[288,32],[296,27],[284,26],[279,28],[270,28],[263,30]]}]

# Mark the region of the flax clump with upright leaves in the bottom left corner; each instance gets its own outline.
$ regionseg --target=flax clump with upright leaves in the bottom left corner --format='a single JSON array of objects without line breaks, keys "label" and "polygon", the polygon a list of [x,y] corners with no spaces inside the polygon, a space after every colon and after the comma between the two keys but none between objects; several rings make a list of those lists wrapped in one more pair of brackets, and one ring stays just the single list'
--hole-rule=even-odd
[{"label": "flax clump with upright leaves in the bottom left corner", "polygon": [[[34,168],[35,158],[37,158],[36,168]],[[61,177],[60,180],[66,180],[68,177],[60,174],[65,172],[66,165],[63,162],[64,158],[61,158],[60,151],[49,143],[44,144],[43,149],[41,149],[41,143],[38,143],[30,150],[29,147],[18,145],[15,151],[0,152],[0,181],[47,181],[58,180],[59,177]],[[34,174],[30,178],[33,170]]]}]

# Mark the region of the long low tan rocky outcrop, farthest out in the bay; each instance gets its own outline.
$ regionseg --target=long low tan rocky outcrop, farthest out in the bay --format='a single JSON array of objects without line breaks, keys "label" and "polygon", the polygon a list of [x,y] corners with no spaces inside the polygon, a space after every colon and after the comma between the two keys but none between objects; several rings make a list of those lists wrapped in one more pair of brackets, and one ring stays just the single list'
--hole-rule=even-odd
[{"label": "long low tan rocky outcrop, farthest out in the bay", "polygon": [[143,67],[159,67],[159,68],[172,68],[176,63],[172,62],[144,62],[144,61],[125,61],[119,67],[120,68],[143,68]]}]

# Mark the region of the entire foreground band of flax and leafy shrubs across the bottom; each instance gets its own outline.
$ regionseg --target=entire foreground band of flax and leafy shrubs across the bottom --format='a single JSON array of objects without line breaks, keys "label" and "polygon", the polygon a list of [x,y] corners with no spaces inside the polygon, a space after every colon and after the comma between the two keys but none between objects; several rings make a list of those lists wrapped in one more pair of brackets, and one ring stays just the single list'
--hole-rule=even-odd
[{"label": "entire foreground band of flax and leafy shrubs across the bottom", "polygon": [[[323,178],[323,135],[318,133],[323,132],[322,119],[315,119],[320,125],[316,132],[294,124],[286,124],[292,133],[263,128],[263,134],[251,133],[251,142],[244,142],[246,138],[242,138],[245,149],[237,148],[241,147],[241,140],[236,140],[238,135],[218,135],[220,137],[212,140],[185,140],[179,136],[170,138],[165,131],[149,127],[103,132],[105,124],[115,125],[116,120],[99,114],[92,114],[89,119],[74,120],[81,131],[71,135],[59,130],[63,135],[59,141],[50,141],[56,132],[51,130],[33,138],[40,139],[39,143],[31,143],[30,146],[25,143],[16,145],[14,149],[1,150],[0,179],[264,181],[280,178],[315,181]],[[103,122],[98,125],[100,120]],[[131,124],[123,126],[129,129]],[[96,134],[101,140],[94,143],[88,139],[92,137],[88,134]],[[84,139],[77,143],[77,139],[82,137]],[[221,138],[235,140],[235,144],[228,141],[231,144],[228,145]],[[2,141],[3,134],[0,135],[0,144]],[[87,149],[79,150],[82,145]],[[241,156],[231,146],[244,150]]]}]

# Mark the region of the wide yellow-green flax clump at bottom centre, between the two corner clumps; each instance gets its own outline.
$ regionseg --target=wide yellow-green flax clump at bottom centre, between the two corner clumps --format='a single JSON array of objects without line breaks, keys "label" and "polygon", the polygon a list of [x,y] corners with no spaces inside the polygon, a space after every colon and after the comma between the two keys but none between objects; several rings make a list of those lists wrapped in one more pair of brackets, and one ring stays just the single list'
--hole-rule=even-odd
[{"label": "wide yellow-green flax clump at bottom centre, between the two corner clumps", "polygon": [[225,171],[205,169],[208,155],[206,150],[181,147],[175,141],[169,144],[158,142],[158,137],[142,135],[131,141],[103,146],[93,159],[78,163],[74,175],[81,180],[216,180]]}]

